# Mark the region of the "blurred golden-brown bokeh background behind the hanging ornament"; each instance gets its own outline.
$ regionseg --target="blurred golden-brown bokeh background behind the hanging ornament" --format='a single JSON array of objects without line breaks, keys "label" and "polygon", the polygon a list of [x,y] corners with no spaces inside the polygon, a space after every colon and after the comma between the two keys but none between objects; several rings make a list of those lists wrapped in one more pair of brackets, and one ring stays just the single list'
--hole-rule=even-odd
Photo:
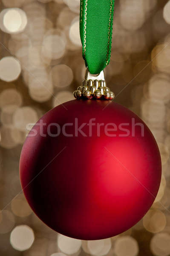
[{"label": "blurred golden-brown bokeh background behind the hanging ornament", "polygon": [[46,227],[21,191],[18,167],[26,125],[73,99],[84,76],[79,4],[0,0],[0,255],[168,256],[170,0],[115,1],[112,57],[105,70],[115,101],[144,119],[160,148],[161,186],[149,212],[119,236],[80,241]]}]

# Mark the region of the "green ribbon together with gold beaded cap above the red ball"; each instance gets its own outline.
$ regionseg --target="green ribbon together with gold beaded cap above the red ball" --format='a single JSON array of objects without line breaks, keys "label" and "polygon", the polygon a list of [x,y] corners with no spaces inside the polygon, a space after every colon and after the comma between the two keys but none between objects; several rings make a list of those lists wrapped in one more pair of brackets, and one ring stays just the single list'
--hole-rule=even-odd
[{"label": "green ribbon together with gold beaded cap above the red ball", "polygon": [[115,97],[104,79],[104,68],[111,54],[114,3],[115,0],[81,0],[80,36],[87,68],[82,85],[73,93],[76,99]]}]

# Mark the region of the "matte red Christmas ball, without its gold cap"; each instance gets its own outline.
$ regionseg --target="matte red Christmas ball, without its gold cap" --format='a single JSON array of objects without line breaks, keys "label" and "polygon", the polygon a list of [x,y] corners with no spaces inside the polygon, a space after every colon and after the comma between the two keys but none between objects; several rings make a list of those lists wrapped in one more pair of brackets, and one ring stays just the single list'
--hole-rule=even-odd
[{"label": "matte red Christmas ball, without its gold cap", "polygon": [[20,180],[29,205],[53,230],[105,239],[128,230],[150,209],[161,158],[135,113],[114,102],[72,100],[46,113],[29,133]]}]

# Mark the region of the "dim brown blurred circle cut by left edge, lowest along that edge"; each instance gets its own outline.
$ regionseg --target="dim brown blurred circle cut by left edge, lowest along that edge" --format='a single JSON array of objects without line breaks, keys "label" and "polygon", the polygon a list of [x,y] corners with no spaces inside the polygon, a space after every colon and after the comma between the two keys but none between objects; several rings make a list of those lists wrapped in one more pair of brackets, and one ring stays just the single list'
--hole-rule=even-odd
[{"label": "dim brown blurred circle cut by left edge, lowest along that edge", "polygon": [[12,230],[15,224],[14,215],[8,210],[2,210],[0,212],[0,234],[8,233]]}]

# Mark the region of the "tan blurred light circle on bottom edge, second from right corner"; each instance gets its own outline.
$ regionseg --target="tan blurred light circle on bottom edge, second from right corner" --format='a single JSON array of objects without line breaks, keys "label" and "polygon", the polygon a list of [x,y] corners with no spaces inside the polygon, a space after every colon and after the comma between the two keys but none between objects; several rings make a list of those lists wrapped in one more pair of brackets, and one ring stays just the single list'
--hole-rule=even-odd
[{"label": "tan blurred light circle on bottom edge, second from right corner", "polygon": [[116,256],[137,256],[138,243],[131,236],[121,236],[115,241],[114,252]]}]

